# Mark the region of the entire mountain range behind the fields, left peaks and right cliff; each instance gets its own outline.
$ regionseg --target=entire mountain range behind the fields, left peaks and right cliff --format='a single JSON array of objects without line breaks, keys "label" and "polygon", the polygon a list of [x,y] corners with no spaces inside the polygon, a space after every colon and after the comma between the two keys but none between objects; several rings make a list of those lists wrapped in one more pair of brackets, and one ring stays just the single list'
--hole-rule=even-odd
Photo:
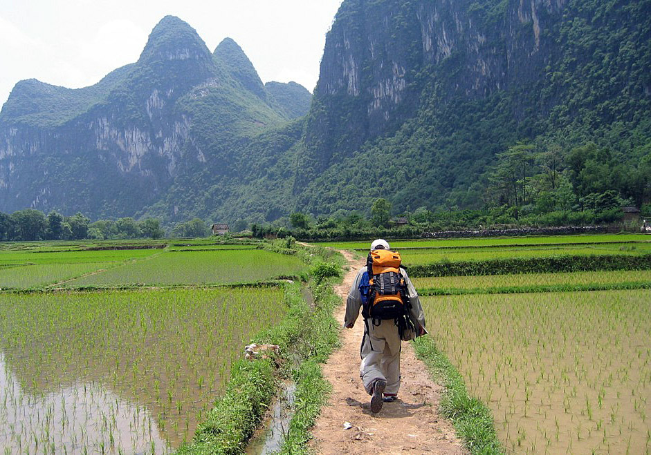
[{"label": "entire mountain range behind the fields, left peaks and right cliff", "polygon": [[246,226],[378,197],[496,222],[651,209],[651,0],[345,0],[311,101],[177,21],[92,88],[17,84],[0,211]]}]

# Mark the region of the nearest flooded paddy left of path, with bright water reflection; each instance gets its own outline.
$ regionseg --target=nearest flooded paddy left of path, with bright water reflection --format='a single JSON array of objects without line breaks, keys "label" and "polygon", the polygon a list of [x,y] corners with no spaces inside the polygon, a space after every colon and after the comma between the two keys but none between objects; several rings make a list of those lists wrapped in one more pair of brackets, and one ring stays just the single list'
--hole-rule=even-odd
[{"label": "nearest flooded paddy left of path, with bright water reflection", "polygon": [[[189,441],[282,287],[5,293],[0,446],[161,453]],[[266,302],[260,305],[259,302]]]}]

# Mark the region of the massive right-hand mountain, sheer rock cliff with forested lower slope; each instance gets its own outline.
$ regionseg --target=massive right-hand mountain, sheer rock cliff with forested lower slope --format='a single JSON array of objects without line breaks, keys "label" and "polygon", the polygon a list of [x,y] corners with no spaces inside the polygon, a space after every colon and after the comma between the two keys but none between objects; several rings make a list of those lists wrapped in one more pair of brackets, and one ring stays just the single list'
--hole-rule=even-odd
[{"label": "massive right-hand mountain, sheer rock cliff with forested lower slope", "polygon": [[649,137],[650,8],[649,0],[345,1],[307,117],[297,205],[336,212],[383,196],[398,211],[479,207],[480,177],[518,141],[567,149],[596,141],[630,159],[625,142]]}]

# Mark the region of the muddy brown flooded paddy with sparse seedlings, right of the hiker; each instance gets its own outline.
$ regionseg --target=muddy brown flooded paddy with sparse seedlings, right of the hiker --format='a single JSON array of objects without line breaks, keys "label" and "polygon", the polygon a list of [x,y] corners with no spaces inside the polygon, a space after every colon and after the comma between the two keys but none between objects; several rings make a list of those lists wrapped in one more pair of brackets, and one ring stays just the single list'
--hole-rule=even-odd
[{"label": "muddy brown flooded paddy with sparse seedlings, right of the hiker", "polygon": [[421,301],[507,452],[651,450],[651,291]]}]

